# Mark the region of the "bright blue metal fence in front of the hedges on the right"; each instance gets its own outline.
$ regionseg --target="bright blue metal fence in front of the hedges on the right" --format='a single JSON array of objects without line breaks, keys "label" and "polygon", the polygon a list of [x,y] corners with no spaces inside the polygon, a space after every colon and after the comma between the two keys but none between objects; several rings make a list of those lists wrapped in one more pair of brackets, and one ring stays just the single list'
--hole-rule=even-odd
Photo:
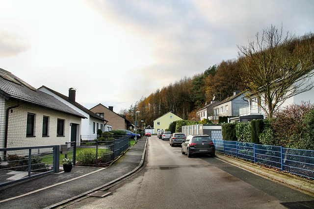
[{"label": "bright blue metal fence in front of the hedges on the right", "polygon": [[314,179],[314,150],[212,139],[216,152]]}]

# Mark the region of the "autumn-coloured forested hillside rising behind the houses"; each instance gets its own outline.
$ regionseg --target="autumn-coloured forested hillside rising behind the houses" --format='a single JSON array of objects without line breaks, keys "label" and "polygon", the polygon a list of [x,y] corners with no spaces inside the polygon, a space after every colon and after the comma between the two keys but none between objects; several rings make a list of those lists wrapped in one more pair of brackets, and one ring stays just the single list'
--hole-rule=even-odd
[{"label": "autumn-coloured forested hillside rising behind the houses", "polygon": [[[278,32],[277,28],[273,26],[271,26],[271,28],[265,29],[264,32],[272,32],[272,30]],[[250,44],[252,43],[254,42],[251,42]],[[271,69],[271,71],[278,70],[278,72],[280,72],[280,76],[282,76],[284,73],[285,75],[288,74],[291,77],[291,73],[296,73],[299,71],[300,66],[304,64],[300,63],[301,58],[304,60],[303,62],[307,62],[307,69],[313,69],[313,33],[310,32],[301,37],[292,36],[288,42],[286,38],[283,39],[282,42],[278,43],[279,44],[274,47],[281,47],[281,51],[279,52],[280,54],[276,54],[275,57],[271,55],[270,62],[278,63],[278,60],[280,59],[284,61],[281,60],[281,66],[277,67],[277,69]],[[241,46],[239,49],[242,49],[240,51],[243,51],[243,49],[250,50],[250,48],[245,46]],[[142,97],[135,104],[132,104],[129,109],[122,110],[119,114],[126,115],[127,119],[129,119],[131,122],[134,122],[135,112],[140,111],[137,114],[137,120],[144,120],[143,123],[146,124],[146,126],[151,125],[152,127],[154,126],[154,120],[157,117],[162,116],[169,111],[174,111],[177,116],[185,120],[187,119],[198,121],[199,118],[196,118],[196,111],[201,107],[204,107],[206,103],[209,103],[213,99],[215,101],[222,101],[223,99],[231,96],[233,91],[252,92],[254,90],[252,89],[252,84],[256,83],[254,79],[257,78],[258,75],[255,75],[256,77],[248,77],[248,74],[250,74],[248,70],[254,72],[254,70],[259,69],[255,67],[250,67],[250,69],[248,69],[246,67],[247,62],[252,62],[252,60],[254,61],[254,56],[260,56],[260,54],[263,54],[263,56],[268,56],[268,54],[270,54],[269,51],[272,51],[272,49],[269,49],[271,48],[267,48],[266,46],[262,49],[262,51],[256,51],[255,53],[251,54],[252,58],[242,54],[236,59],[227,61],[223,60],[218,65],[210,66],[201,74],[196,74],[193,77],[184,77],[180,81],[176,81],[173,84],[163,87],[161,90],[157,89],[148,97]],[[248,52],[250,52],[249,50]],[[276,56],[280,57],[280,59],[276,58]],[[299,60],[299,64],[297,64],[296,67],[292,65],[289,66],[289,58]],[[269,59],[265,60],[264,63],[261,63],[261,66],[267,66],[268,64]],[[265,67],[260,67],[260,69],[265,69]],[[292,71],[286,73],[285,70]],[[306,71],[306,69],[304,70]],[[268,78],[267,76],[265,78],[260,76],[259,79],[267,80]],[[275,77],[271,79],[273,81]],[[263,80],[261,80],[261,83],[263,83]],[[255,88],[261,88],[261,86],[254,86]],[[141,123],[139,123],[138,127],[141,127]]]}]

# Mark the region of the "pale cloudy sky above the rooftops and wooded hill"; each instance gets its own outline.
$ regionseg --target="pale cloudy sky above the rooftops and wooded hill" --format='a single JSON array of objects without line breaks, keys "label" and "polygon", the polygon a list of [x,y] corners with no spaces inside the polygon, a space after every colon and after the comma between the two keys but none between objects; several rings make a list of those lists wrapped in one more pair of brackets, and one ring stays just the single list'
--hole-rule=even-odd
[{"label": "pale cloudy sky above the rooftops and wooded hill", "polygon": [[142,96],[237,57],[271,24],[314,32],[314,0],[0,0],[0,68],[86,108]]}]

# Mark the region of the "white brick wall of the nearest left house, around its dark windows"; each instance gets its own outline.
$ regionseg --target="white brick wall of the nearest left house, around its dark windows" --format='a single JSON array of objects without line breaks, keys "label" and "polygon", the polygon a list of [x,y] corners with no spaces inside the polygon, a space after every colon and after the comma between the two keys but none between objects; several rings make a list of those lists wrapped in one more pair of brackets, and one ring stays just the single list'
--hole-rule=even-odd
[{"label": "white brick wall of the nearest left house, around its dark windows", "polygon": [[[4,126],[0,129],[0,141],[1,147],[4,147],[4,132],[5,132],[5,111],[6,108],[14,106],[17,104],[17,101],[9,100],[6,101],[4,108],[4,117],[2,110],[0,110],[1,120],[4,120]],[[0,100],[1,108],[1,100]],[[1,108],[3,109],[3,108]],[[34,122],[34,136],[35,137],[26,137],[26,122],[27,122],[27,113],[35,114]],[[48,135],[49,137],[42,137],[43,129],[43,116],[49,117],[48,124]],[[57,119],[64,119],[64,137],[57,137]],[[71,126],[70,123],[78,124],[77,139],[79,140],[81,118],[76,116],[71,116],[68,114],[60,113],[53,111],[47,108],[31,105],[25,102],[21,102],[21,105],[17,108],[9,111],[9,124],[8,124],[8,138],[7,138],[7,147],[25,147],[25,146],[44,146],[44,145],[60,145],[65,142],[71,141]]]}]

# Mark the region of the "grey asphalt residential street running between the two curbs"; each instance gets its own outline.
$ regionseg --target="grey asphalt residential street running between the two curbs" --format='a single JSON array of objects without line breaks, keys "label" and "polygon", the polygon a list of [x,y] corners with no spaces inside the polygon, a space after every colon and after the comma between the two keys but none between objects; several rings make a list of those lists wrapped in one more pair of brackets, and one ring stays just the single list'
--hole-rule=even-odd
[{"label": "grey asphalt residential street running between the two curbs", "polygon": [[169,140],[156,136],[148,139],[145,164],[139,173],[108,189],[112,194],[83,198],[67,208],[314,208],[313,196],[217,158],[187,158],[179,146],[171,147]]}]

